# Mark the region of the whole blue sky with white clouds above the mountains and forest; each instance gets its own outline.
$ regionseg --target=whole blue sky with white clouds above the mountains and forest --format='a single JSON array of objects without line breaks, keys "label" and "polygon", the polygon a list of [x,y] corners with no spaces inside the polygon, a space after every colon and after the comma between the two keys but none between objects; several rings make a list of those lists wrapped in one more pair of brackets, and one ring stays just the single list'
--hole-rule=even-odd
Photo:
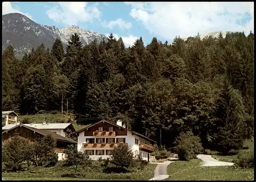
[{"label": "whole blue sky with white clouds above the mountains and forest", "polygon": [[165,42],[216,31],[254,32],[253,2],[4,2],[3,14],[21,13],[39,24],[78,25],[122,37],[126,46],[140,36]]}]

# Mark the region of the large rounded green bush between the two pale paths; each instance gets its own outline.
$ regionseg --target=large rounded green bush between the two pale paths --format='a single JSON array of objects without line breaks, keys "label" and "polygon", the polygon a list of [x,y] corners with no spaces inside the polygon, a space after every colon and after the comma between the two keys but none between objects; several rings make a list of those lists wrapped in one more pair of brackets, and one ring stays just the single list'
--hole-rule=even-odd
[{"label": "large rounded green bush between the two pale paths", "polygon": [[181,133],[175,140],[176,151],[181,161],[195,159],[203,151],[201,140],[192,132]]}]

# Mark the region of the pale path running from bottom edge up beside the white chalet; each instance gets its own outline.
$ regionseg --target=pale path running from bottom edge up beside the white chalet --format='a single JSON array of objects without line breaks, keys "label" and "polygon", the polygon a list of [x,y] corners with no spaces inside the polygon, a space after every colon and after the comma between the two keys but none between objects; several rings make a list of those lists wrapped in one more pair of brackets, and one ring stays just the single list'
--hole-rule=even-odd
[{"label": "pale path running from bottom edge up beside the white chalet", "polygon": [[168,158],[168,161],[165,161],[163,163],[153,163],[153,164],[158,164],[156,169],[155,169],[155,175],[152,179],[150,180],[163,180],[169,177],[169,175],[167,174],[167,166],[170,163],[175,162],[176,160],[178,160],[177,155],[175,155],[173,158]]}]

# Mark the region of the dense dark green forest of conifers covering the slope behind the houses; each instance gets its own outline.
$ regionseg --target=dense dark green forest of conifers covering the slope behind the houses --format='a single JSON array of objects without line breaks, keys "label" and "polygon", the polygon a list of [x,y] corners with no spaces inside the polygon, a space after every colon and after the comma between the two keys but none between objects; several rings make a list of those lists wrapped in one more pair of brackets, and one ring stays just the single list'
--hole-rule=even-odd
[{"label": "dense dark green forest of conifers covering the slope behind the houses", "polygon": [[[63,110],[121,119],[133,131],[171,146],[192,131],[204,146],[253,135],[254,35],[227,33],[172,43],[142,38],[125,48],[111,34],[82,46],[70,37],[66,53],[56,39],[15,57],[2,55],[2,110],[19,114]],[[226,142],[230,142],[226,141]]]}]

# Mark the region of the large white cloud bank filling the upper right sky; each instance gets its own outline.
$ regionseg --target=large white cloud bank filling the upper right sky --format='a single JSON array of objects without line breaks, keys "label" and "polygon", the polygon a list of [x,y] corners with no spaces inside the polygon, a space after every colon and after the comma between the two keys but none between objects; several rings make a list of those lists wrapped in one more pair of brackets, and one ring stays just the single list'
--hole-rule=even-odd
[{"label": "large white cloud bank filling the upper right sky", "polygon": [[[130,15],[161,38],[194,36],[216,31],[254,32],[253,2],[153,2],[125,3],[132,6]],[[237,24],[248,14],[251,20]]]}]

